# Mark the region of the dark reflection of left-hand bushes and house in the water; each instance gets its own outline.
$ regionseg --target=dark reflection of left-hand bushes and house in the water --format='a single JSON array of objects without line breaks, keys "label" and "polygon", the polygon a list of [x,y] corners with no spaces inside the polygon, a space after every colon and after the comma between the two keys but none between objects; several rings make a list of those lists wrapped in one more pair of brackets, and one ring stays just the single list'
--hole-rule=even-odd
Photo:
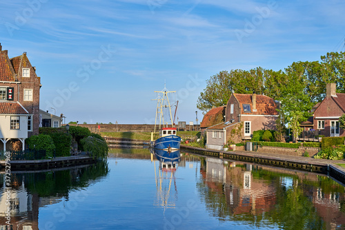
[{"label": "dark reflection of left-hand bushes and house in the water", "polygon": [[8,226],[6,202],[10,202],[8,215],[12,229],[38,230],[40,208],[61,200],[68,202],[70,191],[88,187],[108,172],[108,163],[104,161],[69,170],[12,172],[10,189],[6,189],[5,172],[0,172],[0,229]]}]

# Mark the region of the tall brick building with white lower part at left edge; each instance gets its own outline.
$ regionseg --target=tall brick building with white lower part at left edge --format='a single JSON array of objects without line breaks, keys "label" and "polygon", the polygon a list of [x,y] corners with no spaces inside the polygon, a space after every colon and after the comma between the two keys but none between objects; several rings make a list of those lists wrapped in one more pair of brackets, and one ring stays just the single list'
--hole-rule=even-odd
[{"label": "tall brick building with white lower part at left edge", "polygon": [[[39,90],[41,80],[23,52],[12,59],[0,44],[0,145],[3,151],[11,143],[39,133]],[[1,147],[0,147],[1,149]]]}]

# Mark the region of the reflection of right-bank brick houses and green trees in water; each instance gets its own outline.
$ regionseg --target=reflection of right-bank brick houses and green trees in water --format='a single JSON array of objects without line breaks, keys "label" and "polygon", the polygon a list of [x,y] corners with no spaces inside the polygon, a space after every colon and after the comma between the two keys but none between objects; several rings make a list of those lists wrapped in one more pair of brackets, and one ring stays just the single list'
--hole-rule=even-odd
[{"label": "reflection of right-bank brick houses and green trees in water", "polygon": [[345,227],[344,187],[326,176],[216,158],[201,160],[200,171],[199,193],[221,221],[255,228]]}]

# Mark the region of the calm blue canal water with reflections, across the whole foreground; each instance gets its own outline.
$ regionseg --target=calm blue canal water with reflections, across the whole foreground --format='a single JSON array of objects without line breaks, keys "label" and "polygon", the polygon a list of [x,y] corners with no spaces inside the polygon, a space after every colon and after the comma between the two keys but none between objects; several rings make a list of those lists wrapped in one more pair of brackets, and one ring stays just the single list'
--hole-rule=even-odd
[{"label": "calm blue canal water with reflections, across the whole foreground", "polygon": [[[345,227],[344,187],[331,178],[188,154],[168,171],[148,149],[112,149],[106,164],[11,181],[13,229]],[[4,176],[0,182],[5,229]]]}]

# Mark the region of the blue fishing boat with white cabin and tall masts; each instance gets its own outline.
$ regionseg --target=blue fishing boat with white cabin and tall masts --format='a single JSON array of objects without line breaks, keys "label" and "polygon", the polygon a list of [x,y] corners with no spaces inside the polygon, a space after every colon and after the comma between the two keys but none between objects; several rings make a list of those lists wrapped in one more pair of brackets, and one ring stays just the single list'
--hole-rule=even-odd
[{"label": "blue fishing boat with white cabin and tall masts", "polygon": [[[165,151],[176,151],[180,148],[181,137],[177,136],[177,129],[174,127],[174,119],[171,116],[171,106],[168,98],[168,94],[176,91],[168,91],[166,87],[162,91],[155,91],[158,94],[156,119],[155,119],[155,131],[151,133],[150,147],[155,149],[161,149]],[[171,126],[166,124],[164,127],[164,109],[168,110],[170,116]],[[176,114],[176,112],[175,112]],[[157,118],[159,118],[159,132],[156,132]],[[163,125],[161,124],[163,123]]]}]

